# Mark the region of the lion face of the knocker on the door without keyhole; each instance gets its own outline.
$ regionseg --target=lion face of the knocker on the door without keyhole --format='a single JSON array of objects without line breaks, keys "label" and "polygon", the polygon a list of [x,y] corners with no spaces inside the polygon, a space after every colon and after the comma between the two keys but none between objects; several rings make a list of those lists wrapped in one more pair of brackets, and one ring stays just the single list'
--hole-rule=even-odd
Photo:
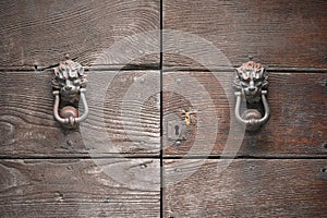
[{"label": "lion face of the knocker on the door without keyhole", "polygon": [[60,62],[52,77],[53,89],[60,90],[64,99],[77,101],[80,89],[86,87],[86,74],[80,63],[72,60]]}]

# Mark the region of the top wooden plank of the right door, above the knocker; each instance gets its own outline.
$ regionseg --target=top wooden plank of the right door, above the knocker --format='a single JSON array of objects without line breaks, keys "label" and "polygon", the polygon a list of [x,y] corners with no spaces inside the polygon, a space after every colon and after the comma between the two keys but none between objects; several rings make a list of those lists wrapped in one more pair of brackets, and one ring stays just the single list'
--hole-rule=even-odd
[{"label": "top wooden plank of the right door, above the knocker", "polygon": [[[165,66],[204,69],[198,59],[217,50],[232,65],[252,57],[270,66],[327,66],[324,0],[165,1],[164,14],[165,29],[184,32],[164,35]],[[226,64],[219,58],[207,66]]]}]

